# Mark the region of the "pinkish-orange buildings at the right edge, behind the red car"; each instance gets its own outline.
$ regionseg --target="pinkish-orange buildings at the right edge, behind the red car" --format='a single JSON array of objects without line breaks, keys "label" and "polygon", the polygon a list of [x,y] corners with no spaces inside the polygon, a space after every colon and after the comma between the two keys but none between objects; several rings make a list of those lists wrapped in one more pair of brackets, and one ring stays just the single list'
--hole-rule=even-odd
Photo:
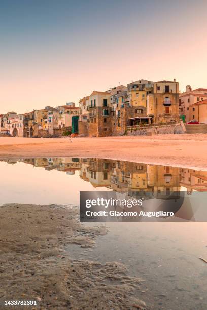
[{"label": "pinkish-orange buildings at the right edge, behind the red car", "polygon": [[196,120],[207,124],[207,88],[192,89],[186,86],[186,91],[179,96],[180,115],[185,122]]}]

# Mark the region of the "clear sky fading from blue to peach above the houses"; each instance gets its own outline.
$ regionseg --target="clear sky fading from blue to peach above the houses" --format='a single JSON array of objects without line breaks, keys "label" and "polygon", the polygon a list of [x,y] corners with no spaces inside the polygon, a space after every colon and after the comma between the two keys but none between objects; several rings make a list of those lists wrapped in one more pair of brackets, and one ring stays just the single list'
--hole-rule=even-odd
[{"label": "clear sky fading from blue to peach above the houses", "polygon": [[206,0],[0,0],[0,113],[146,79],[207,88]]}]

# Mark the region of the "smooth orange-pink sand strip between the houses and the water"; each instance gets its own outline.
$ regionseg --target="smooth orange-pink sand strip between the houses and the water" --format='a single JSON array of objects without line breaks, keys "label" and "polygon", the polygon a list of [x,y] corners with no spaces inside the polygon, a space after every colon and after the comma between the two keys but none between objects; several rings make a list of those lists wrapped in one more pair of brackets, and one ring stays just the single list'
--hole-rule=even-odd
[{"label": "smooth orange-pink sand strip between the houses and the water", "polygon": [[207,170],[207,134],[0,138],[0,158],[95,157]]}]

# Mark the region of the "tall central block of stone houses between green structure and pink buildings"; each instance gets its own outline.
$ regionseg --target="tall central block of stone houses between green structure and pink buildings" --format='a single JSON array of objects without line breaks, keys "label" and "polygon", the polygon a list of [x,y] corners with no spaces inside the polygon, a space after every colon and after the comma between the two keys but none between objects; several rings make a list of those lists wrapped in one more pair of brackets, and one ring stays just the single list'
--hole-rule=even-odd
[{"label": "tall central block of stone houses between green structure and pink buildings", "polygon": [[139,124],[172,122],[179,117],[179,83],[138,80],[80,100],[79,135],[123,135]]}]

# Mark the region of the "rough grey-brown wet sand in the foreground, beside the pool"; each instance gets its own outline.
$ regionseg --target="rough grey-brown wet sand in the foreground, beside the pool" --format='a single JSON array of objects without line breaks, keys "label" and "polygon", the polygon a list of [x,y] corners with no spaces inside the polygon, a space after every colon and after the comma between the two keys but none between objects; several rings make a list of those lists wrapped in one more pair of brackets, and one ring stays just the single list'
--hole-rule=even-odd
[{"label": "rough grey-brown wet sand in the foreground, beside the pool", "polygon": [[80,224],[78,212],[57,205],[0,206],[1,307],[4,300],[36,300],[33,309],[148,309],[139,298],[143,280],[130,277],[124,264],[71,258],[74,245],[87,250],[107,234],[103,226]]}]

